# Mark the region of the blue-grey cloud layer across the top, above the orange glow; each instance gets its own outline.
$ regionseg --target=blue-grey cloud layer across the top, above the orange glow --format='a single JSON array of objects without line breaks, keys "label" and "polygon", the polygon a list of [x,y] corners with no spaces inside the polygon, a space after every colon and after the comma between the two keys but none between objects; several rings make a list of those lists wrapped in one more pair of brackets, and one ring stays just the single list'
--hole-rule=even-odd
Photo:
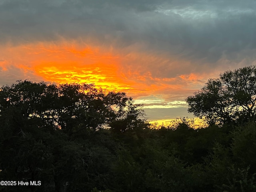
[{"label": "blue-grey cloud layer across the top, above the orange glow", "polygon": [[[255,5],[255,6],[254,6]],[[255,1],[14,0],[0,5],[2,42],[95,38],[117,48],[216,62],[255,48]]]}]

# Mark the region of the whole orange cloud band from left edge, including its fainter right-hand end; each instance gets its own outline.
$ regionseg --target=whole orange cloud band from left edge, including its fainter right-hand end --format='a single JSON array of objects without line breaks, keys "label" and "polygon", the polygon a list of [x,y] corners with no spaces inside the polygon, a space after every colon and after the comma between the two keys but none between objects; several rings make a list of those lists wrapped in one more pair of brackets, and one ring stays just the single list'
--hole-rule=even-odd
[{"label": "whole orange cloud band from left edge, including its fainter right-hand end", "polygon": [[195,74],[168,77],[168,71],[177,67],[177,59],[173,58],[174,66],[168,66],[170,58],[137,51],[136,46],[118,49],[62,40],[9,44],[0,46],[0,52],[4,75],[11,76],[17,73],[14,69],[19,70],[13,80],[95,83],[108,90],[126,92],[135,99],[156,94],[171,100],[183,99],[191,89],[188,82],[197,79]]}]

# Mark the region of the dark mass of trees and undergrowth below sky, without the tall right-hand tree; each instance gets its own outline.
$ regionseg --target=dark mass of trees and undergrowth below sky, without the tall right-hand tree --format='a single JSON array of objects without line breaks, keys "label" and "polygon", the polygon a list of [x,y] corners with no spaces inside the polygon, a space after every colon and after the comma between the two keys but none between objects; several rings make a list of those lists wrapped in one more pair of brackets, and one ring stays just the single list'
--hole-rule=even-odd
[{"label": "dark mass of trees and undergrowth below sky, without the tall right-hand tree", "polygon": [[0,90],[0,191],[254,192],[256,123],[152,128],[141,105],[92,84]]}]

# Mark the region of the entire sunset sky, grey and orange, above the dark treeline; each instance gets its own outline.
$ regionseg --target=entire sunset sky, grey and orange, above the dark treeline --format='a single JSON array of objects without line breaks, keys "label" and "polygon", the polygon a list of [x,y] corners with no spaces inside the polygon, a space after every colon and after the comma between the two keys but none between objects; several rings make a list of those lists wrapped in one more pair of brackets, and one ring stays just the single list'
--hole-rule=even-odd
[{"label": "entire sunset sky, grey and orange, above the dark treeline", "polygon": [[1,0],[0,86],[94,83],[192,118],[209,78],[256,64],[255,34],[255,0]]}]

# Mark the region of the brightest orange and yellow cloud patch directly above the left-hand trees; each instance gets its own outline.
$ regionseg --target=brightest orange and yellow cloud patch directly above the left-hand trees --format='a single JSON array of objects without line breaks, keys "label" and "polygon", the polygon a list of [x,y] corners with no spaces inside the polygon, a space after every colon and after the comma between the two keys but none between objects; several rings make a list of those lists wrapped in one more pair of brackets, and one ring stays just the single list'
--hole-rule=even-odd
[{"label": "brightest orange and yellow cloud patch directly above the left-hand trees", "polygon": [[49,82],[95,83],[103,88],[110,87],[111,90],[129,88],[122,78],[118,78],[118,56],[97,47],[82,47],[68,42],[41,42],[1,49],[7,58],[7,61],[0,62],[2,70],[12,66],[24,73],[32,70],[34,76]]}]

